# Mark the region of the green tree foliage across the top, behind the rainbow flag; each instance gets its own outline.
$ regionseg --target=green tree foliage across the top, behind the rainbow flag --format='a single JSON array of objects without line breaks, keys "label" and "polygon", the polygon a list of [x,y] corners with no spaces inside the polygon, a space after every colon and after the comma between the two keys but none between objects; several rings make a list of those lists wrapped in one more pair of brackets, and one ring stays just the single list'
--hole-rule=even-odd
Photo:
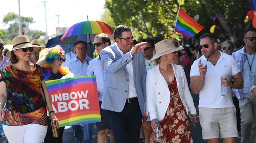
[{"label": "green tree foliage across the top, behind the rainbow flag", "polygon": [[[205,26],[196,35],[210,31],[213,25],[212,16],[219,20],[217,36],[223,39],[237,40],[242,38],[242,31],[251,25],[244,22],[248,8],[246,2],[251,0],[106,0],[114,25],[124,24],[134,29],[139,38],[162,36],[172,38],[175,19],[179,5],[191,17]],[[176,33],[176,38],[181,35]]]}]

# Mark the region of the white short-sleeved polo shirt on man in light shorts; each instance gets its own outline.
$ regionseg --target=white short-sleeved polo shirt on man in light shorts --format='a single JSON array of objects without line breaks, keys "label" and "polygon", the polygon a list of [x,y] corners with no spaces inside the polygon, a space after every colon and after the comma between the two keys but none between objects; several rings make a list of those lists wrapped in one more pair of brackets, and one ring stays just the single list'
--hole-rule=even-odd
[{"label": "white short-sleeved polo shirt on man in light shorts", "polygon": [[[219,51],[220,52],[220,51]],[[206,108],[228,108],[234,107],[231,96],[231,85],[228,87],[228,95],[221,96],[221,76],[231,77],[240,72],[237,61],[231,55],[221,53],[221,56],[214,66],[207,61],[204,55],[193,62],[191,66],[190,77],[199,76],[198,62],[201,59],[203,66],[207,65],[207,72],[204,79],[204,85],[199,92],[198,107]]]}]

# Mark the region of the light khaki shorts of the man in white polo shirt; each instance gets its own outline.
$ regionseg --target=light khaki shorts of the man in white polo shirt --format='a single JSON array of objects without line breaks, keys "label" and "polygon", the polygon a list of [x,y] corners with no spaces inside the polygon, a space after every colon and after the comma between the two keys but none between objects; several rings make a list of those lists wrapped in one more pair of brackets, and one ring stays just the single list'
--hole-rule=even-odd
[{"label": "light khaki shorts of the man in white polo shirt", "polygon": [[199,108],[203,139],[238,137],[236,109]]}]

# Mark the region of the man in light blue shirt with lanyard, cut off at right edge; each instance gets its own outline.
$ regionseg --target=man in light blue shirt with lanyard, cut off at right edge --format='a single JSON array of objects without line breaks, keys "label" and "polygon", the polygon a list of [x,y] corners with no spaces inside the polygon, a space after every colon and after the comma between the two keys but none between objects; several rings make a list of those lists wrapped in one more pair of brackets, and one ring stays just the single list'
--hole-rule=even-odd
[{"label": "man in light blue shirt with lanyard, cut off at right edge", "polygon": [[[256,97],[253,96],[253,91],[251,91],[251,85],[255,84],[256,74],[255,28],[249,28],[244,32],[243,41],[245,47],[232,54],[234,59],[238,62],[244,79],[243,88],[232,89],[232,91],[239,99],[241,112],[241,142],[250,143],[256,142]],[[252,140],[250,140],[250,136]]]}]

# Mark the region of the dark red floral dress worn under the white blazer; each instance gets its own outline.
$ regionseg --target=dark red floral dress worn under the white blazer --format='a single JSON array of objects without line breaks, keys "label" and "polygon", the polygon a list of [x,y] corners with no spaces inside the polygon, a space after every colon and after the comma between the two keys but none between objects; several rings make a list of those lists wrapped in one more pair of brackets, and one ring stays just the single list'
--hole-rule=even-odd
[{"label": "dark red floral dress worn under the white blazer", "polygon": [[[186,113],[186,108],[182,104],[176,79],[168,84],[170,90],[170,104],[161,125],[161,142],[166,143],[190,143],[193,142],[190,124]],[[150,142],[154,141],[155,133],[151,132]]]}]

